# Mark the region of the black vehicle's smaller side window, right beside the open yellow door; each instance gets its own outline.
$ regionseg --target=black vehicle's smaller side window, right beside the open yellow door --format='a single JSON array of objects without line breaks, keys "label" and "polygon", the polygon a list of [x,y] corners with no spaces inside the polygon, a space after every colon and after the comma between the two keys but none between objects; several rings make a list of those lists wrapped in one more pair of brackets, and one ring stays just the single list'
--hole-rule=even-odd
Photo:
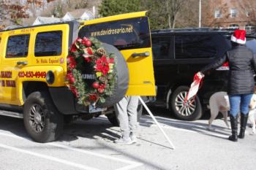
[{"label": "black vehicle's smaller side window, right beside the open yellow door", "polygon": [[170,49],[169,37],[154,37],[152,38],[152,50],[154,59],[168,58]]}]

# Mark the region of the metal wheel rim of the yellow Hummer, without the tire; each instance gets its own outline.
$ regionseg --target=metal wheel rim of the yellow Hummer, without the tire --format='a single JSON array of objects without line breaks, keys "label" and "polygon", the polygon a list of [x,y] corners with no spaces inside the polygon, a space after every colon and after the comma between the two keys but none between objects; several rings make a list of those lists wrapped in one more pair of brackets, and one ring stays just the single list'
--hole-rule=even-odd
[{"label": "metal wheel rim of the yellow Hummer, without the tire", "polygon": [[37,133],[45,128],[45,115],[39,104],[32,105],[29,112],[29,125]]}]

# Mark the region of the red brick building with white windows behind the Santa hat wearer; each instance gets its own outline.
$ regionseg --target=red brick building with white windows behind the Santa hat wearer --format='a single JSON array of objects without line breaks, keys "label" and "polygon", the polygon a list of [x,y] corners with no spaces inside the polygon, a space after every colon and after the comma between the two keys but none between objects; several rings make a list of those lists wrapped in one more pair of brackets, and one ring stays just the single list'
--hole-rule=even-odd
[{"label": "red brick building with white windows behind the Santa hat wearer", "polygon": [[202,0],[202,26],[255,31],[256,0]]}]

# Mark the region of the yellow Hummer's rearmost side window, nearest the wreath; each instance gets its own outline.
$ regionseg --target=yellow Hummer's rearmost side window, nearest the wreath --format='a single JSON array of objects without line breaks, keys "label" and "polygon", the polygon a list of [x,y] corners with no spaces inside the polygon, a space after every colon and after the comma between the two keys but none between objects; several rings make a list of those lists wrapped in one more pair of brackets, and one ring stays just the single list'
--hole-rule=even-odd
[{"label": "yellow Hummer's rearmost side window, nearest the wreath", "polygon": [[37,34],[34,47],[35,56],[61,55],[62,31],[50,31]]}]

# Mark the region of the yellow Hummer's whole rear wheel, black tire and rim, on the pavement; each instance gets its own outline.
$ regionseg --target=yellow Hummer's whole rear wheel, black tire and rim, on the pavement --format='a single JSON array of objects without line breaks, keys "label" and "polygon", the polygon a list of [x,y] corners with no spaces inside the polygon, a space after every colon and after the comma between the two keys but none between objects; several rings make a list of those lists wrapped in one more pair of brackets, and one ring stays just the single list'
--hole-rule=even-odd
[{"label": "yellow Hummer's whole rear wheel, black tire and rim, on the pavement", "polygon": [[63,130],[64,119],[53,104],[48,92],[34,92],[24,104],[23,121],[26,131],[35,142],[52,142]]}]

